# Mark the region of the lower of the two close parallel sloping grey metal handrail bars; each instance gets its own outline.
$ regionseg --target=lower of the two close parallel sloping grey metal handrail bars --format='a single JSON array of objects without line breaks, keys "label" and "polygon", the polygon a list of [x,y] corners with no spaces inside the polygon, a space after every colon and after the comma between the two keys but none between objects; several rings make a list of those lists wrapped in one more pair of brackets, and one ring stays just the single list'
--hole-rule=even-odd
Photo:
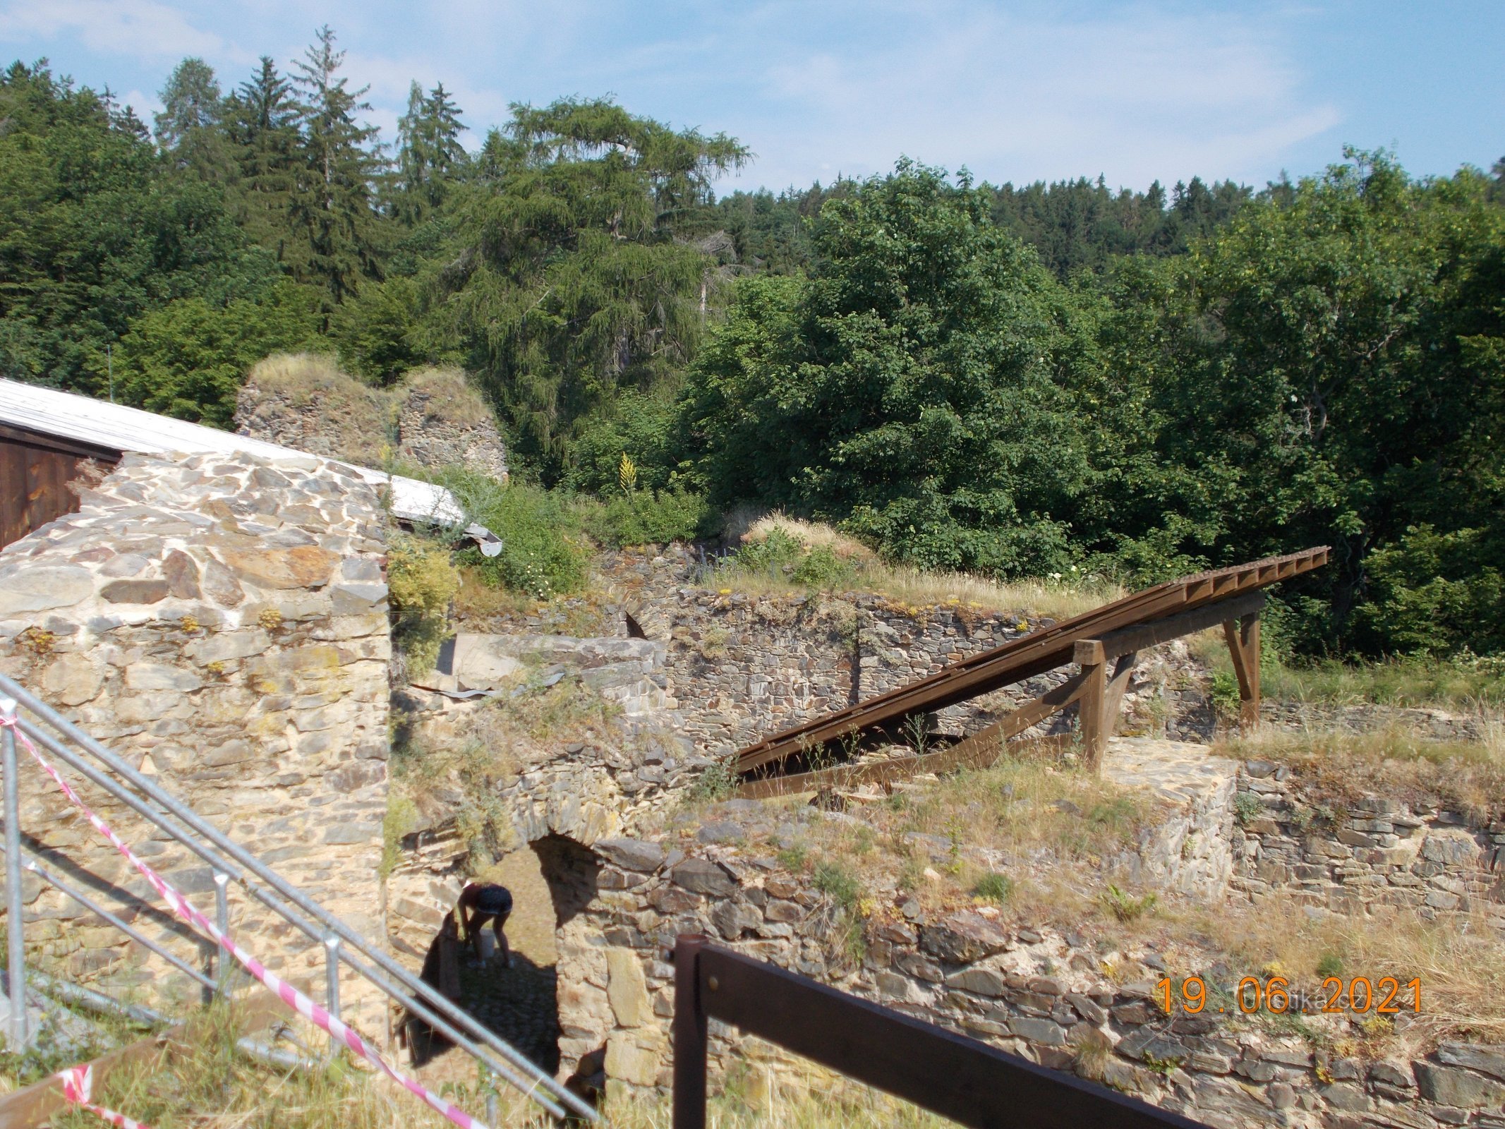
[{"label": "lower of the two close parallel sloping grey metal handrail bars", "polygon": [[[5,676],[0,676],[0,679],[3,679],[3,677]],[[30,709],[30,706],[27,706],[27,708]],[[50,735],[45,730],[41,730],[41,729],[32,726],[26,720],[21,720],[21,730],[24,733],[27,733],[27,736],[30,736],[32,739],[35,739],[38,744],[44,745],[50,753],[56,754],[63,763],[66,763],[71,768],[77,769],[78,772],[84,774],[89,780],[92,780],[101,789],[104,789],[110,795],[116,796],[122,802],[128,804],[138,814],[144,816],[150,822],[157,823],[157,826],[163,828],[170,835],[173,835],[175,838],[178,838],[184,846],[187,846],[190,851],[193,851],[196,855],[199,855],[199,858],[202,858],[205,863],[208,863],[212,867],[217,867],[217,869],[223,870],[224,873],[229,873],[232,878],[235,878],[238,882],[241,882],[241,885],[247,890],[248,894],[251,894],[259,902],[262,902],[268,909],[271,909],[272,912],[275,912],[277,915],[280,915],[281,918],[284,918],[289,924],[301,929],[309,938],[316,938],[316,936],[321,935],[319,927],[316,924],[310,923],[306,917],[303,917],[303,914],[296,912],[292,906],[286,905],[280,897],[277,897],[271,891],[265,890],[259,884],[245,881],[244,872],[239,867],[236,867],[229,860],[223,858],[217,851],[205,846],[203,843],[196,841],[187,832],[181,832],[181,831],[175,829],[170,825],[170,820],[166,816],[154,811],[152,807],[146,801],[140,799],[135,793],[132,793],[129,789],[126,789],[117,780],[113,780],[108,774],[101,772],[98,768],[95,768],[87,760],[84,760],[83,757],[80,757],[71,748],[68,748],[66,745],[63,745],[62,742],[59,742],[53,735]],[[328,917],[328,915],[321,911],[321,917]],[[342,933],[348,933],[349,930],[346,930],[346,929],[342,927],[340,932]],[[357,935],[357,938],[358,938],[358,935]],[[358,947],[358,950],[361,953],[366,953],[367,956],[370,954],[369,950],[367,950],[367,947],[364,944],[358,942],[357,947]],[[479,1028],[479,1031],[482,1033],[482,1040],[489,1048],[494,1048],[494,1049],[500,1051],[501,1055],[503,1055],[501,1058],[498,1058],[495,1054],[489,1054],[489,1052],[483,1051],[480,1046],[477,1046],[476,1042],[473,1042],[467,1036],[461,1034],[461,1031],[456,1030],[455,1024],[448,1022],[445,1018],[441,1018],[432,1009],[429,1009],[423,1003],[420,1003],[418,995],[415,992],[409,992],[409,991],[406,991],[403,987],[397,987],[393,983],[393,980],[384,977],[384,975],[379,975],[376,972],[376,969],[370,968],[369,965],[366,965],[364,962],[361,962],[358,957],[352,956],[352,953],[348,951],[348,950],[345,950],[343,945],[342,945],[342,951],[340,951],[340,960],[343,960],[346,965],[349,965],[360,975],[366,977],[366,980],[369,980],[382,994],[385,994],[387,997],[390,997],[396,1003],[402,1004],[402,1007],[405,1007],[406,1010],[412,1012],[415,1016],[418,1016],[429,1027],[432,1027],[436,1031],[439,1031],[441,1034],[444,1034],[448,1040],[451,1040],[456,1046],[459,1046],[461,1049],[464,1049],[467,1054],[470,1054],[471,1057],[480,1060],[488,1069],[494,1070],[509,1085],[512,1085],[513,1088],[522,1091],[525,1096],[531,1097],[534,1102],[537,1102],[539,1105],[542,1105],[554,1117],[566,1117],[566,1112],[555,1102],[548,1100],[548,1099],[545,1099],[543,1096],[539,1094],[539,1084],[540,1082],[545,1085],[545,1090],[548,1090],[551,1093],[563,1091],[564,1094],[567,1094],[569,1099],[570,1099],[567,1103],[570,1105],[572,1109],[576,1109],[576,1112],[579,1112],[579,1109],[576,1106],[584,1106],[584,1109],[590,1111],[591,1118],[599,1117],[596,1114],[596,1111],[591,1109],[590,1105],[587,1105],[582,1099],[579,1099],[578,1096],[569,1093],[567,1090],[563,1090],[563,1087],[560,1087],[558,1082],[555,1082],[552,1078],[549,1078],[542,1070],[539,1070],[539,1067],[534,1066],[531,1061],[528,1061],[525,1057],[522,1057],[522,1054],[519,1051],[516,1051],[515,1048],[512,1048],[509,1043],[506,1043],[504,1040],[501,1040],[498,1036],[495,1036],[488,1028],[480,1027],[480,1024],[474,1018],[471,1018],[467,1012],[455,1009],[455,1006],[448,1004],[448,1000],[445,1000],[444,997],[439,997],[439,998],[444,1000],[445,1004],[448,1004],[448,1010],[451,1010],[453,1013],[458,1013],[461,1018],[464,1018],[467,1021],[465,1027],[473,1028],[473,1030]],[[382,966],[385,968],[385,965],[382,965]],[[399,968],[400,968],[400,965],[399,965]],[[209,983],[212,984],[214,981],[211,980]],[[427,984],[424,984],[424,987],[427,987]],[[516,1055],[516,1060],[519,1060],[518,1063],[513,1063],[513,1055]],[[525,1075],[525,1078],[519,1076],[518,1070],[513,1069],[513,1064],[521,1064],[522,1066],[522,1075]],[[534,1081],[527,1081],[527,1078],[531,1078]]]}]

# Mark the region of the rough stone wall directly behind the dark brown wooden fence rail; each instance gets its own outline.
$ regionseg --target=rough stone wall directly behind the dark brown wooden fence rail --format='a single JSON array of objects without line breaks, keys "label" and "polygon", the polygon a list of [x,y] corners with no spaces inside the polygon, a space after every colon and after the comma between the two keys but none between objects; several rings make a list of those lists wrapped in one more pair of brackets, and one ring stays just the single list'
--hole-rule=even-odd
[{"label": "rough stone wall directly behind the dark brown wooden fence rail", "polygon": [[[831,899],[772,860],[713,846],[685,857],[640,840],[607,840],[596,851],[600,893],[560,935],[563,1073],[578,1066],[608,1085],[667,1088],[674,987],[665,954],[676,935],[704,933],[1219,1129],[1499,1124],[1505,1048],[1443,1043],[1421,1057],[1344,1058],[1327,1049],[1332,1042],[1314,1048],[1290,1025],[1163,1013],[1162,975],[1230,978],[1210,953],[1166,971],[1144,944],[1108,951],[1090,936],[1005,924],[989,908],[936,918],[879,912],[853,950]],[[1329,1037],[1361,1021],[1306,1016],[1332,1028]],[[1409,1021],[1401,1013],[1397,1030]],[[712,1024],[710,1061],[724,1075],[780,1055]]]}]

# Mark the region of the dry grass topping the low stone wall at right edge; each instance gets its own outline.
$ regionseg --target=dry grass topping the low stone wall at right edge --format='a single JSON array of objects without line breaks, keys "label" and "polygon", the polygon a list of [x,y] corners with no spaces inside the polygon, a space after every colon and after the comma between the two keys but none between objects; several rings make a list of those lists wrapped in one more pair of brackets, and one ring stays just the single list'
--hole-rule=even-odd
[{"label": "dry grass topping the low stone wall at right edge", "polygon": [[1373,733],[1263,729],[1224,741],[1224,756],[1290,765],[1308,795],[1335,805],[1365,796],[1439,804],[1473,820],[1505,816],[1505,726],[1482,717],[1482,742],[1428,741],[1400,727]]}]

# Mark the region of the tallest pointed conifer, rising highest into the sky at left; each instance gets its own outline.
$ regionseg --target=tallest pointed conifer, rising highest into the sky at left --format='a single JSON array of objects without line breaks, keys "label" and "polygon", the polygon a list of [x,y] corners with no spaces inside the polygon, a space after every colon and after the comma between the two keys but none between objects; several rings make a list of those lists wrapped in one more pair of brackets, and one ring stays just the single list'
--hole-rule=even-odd
[{"label": "tallest pointed conifer, rising highest into the sky at left", "polygon": [[370,110],[361,101],[370,87],[348,89],[348,80],[336,77],[343,62],[345,51],[334,50],[334,32],[325,24],[293,63],[304,160],[290,215],[307,262],[292,266],[299,281],[328,292],[331,309],[354,297],[363,278],[381,277],[381,232],[372,209],[381,148],[376,128],[355,120]]}]

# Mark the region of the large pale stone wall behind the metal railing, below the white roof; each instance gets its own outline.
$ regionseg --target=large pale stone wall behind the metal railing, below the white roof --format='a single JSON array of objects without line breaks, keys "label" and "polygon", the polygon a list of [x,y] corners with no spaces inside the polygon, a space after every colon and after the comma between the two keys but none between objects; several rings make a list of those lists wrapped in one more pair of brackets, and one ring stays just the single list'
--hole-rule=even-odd
[{"label": "large pale stone wall behind the metal railing, below the white roof", "polygon": [[[390,634],[375,491],[315,458],[126,456],[81,503],[0,552],[0,670],[379,936]],[[193,957],[187,929],[21,765],[23,831],[51,866]],[[98,789],[83,795],[212,912],[208,867]],[[251,951],[322,994],[319,945],[233,887],[230,903]],[[194,991],[50,887],[27,888],[26,938],[74,975]],[[381,1033],[364,981],[346,977],[345,992]]]}]

